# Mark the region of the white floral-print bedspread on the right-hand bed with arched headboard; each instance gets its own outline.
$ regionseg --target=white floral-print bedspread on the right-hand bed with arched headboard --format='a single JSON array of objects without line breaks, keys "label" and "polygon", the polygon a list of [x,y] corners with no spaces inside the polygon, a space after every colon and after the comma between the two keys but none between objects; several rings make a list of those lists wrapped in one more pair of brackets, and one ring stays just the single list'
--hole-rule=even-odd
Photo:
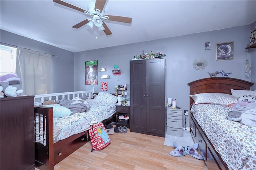
[{"label": "white floral-print bedspread on the right-hand bed with arched headboard", "polygon": [[256,169],[256,127],[225,119],[232,107],[192,105],[198,124],[231,170]]}]

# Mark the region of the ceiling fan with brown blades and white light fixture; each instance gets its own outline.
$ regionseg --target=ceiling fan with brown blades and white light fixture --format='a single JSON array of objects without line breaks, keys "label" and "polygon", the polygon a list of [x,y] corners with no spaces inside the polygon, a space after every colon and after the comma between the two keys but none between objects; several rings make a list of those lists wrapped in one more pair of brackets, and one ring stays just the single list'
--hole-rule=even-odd
[{"label": "ceiling fan with brown blades and white light fixture", "polygon": [[129,18],[129,17],[104,15],[103,8],[106,4],[106,0],[96,0],[95,2],[90,2],[88,4],[88,10],[84,10],[82,8],[74,6],[68,2],[64,2],[62,0],[53,0],[53,2],[67,6],[69,8],[73,8],[75,10],[88,14],[92,17],[92,18],[83,20],[82,22],[79,22],[78,24],[72,26],[73,28],[80,28],[85,24],[87,24],[90,28],[93,28],[93,26],[96,26],[98,27],[99,31],[103,30],[105,34],[108,36],[108,35],[111,35],[112,32],[109,30],[108,26],[105,24],[103,20],[118,21],[118,22],[124,22],[124,23],[132,22],[132,18]]}]

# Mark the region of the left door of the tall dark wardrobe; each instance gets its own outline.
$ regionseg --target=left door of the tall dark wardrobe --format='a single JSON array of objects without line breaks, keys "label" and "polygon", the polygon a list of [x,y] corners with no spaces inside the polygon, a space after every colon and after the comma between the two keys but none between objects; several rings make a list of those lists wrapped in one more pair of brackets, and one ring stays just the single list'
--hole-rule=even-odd
[{"label": "left door of the tall dark wardrobe", "polygon": [[146,131],[146,60],[130,61],[130,131]]}]

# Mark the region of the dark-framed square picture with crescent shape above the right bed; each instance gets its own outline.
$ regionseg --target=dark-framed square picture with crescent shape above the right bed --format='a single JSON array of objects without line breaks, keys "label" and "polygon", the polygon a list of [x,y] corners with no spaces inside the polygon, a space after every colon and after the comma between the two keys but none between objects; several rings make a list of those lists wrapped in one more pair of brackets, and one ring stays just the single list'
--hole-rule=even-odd
[{"label": "dark-framed square picture with crescent shape above the right bed", "polygon": [[234,59],[234,42],[216,43],[216,60]]}]

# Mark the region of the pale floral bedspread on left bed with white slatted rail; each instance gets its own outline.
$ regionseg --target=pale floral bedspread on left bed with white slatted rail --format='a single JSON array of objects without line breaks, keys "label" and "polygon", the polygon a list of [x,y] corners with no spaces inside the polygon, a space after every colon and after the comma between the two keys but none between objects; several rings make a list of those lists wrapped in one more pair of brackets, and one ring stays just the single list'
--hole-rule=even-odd
[{"label": "pale floral bedspread on left bed with white slatted rail", "polygon": [[116,111],[116,106],[113,103],[88,103],[90,107],[86,112],[76,113],[74,115],[61,118],[54,118],[54,125],[61,128],[61,132],[54,142],[87,130],[93,123],[108,119]]}]

